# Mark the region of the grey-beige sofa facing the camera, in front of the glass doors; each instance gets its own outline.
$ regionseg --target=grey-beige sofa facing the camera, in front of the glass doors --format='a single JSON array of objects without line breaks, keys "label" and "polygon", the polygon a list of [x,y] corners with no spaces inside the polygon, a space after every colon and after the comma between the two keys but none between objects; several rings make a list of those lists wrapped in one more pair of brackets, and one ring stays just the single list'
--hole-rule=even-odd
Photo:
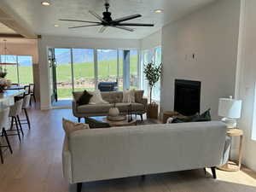
[{"label": "grey-beige sofa facing the camera, in front of the glass doors", "polygon": [[[143,90],[135,91],[135,103],[131,103],[131,113],[138,114],[143,120],[143,113],[147,112],[148,99],[143,98]],[[97,104],[97,105],[81,105],[77,104],[79,97],[83,94],[83,91],[73,92],[73,115],[80,121],[81,118],[91,116],[105,116],[108,114],[109,108],[113,108],[113,103],[119,108],[120,113],[127,113],[130,103],[123,103],[123,92],[102,92],[102,99],[109,102],[109,104]]]}]

